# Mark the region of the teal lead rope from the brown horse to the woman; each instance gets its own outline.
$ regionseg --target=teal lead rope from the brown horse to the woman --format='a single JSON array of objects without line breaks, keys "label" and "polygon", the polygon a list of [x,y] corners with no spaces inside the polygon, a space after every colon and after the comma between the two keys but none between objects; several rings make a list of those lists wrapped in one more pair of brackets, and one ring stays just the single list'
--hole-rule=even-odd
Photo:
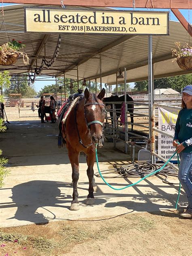
[{"label": "teal lead rope from the brown horse to the woman", "polygon": [[[178,144],[179,144],[179,143],[178,143]],[[134,186],[134,185],[137,185],[139,182],[143,181],[143,180],[146,179],[147,177],[149,177],[149,176],[151,176],[151,175],[153,175],[153,174],[156,174],[156,173],[160,172],[160,171],[169,163],[169,161],[171,161],[171,159],[172,159],[176,154],[177,154],[177,163],[178,163],[178,167],[179,167],[179,155],[178,155],[177,152],[175,152],[175,153],[166,161],[166,163],[164,163],[164,165],[163,165],[160,169],[158,169],[158,170],[156,170],[156,171],[154,171],[154,172],[151,172],[150,174],[147,174],[145,177],[143,177],[142,179],[140,179],[139,181],[137,181],[137,182],[135,182],[135,183],[132,183],[132,184],[127,185],[127,186],[122,187],[122,188],[115,188],[115,187],[111,186],[107,181],[105,181],[105,179],[103,178],[103,176],[102,176],[102,174],[101,174],[101,172],[100,172],[99,163],[98,163],[98,156],[97,156],[97,144],[95,144],[95,155],[96,155],[96,163],[97,163],[98,172],[99,172],[99,174],[100,174],[102,180],[105,182],[105,184],[107,184],[109,187],[111,187],[112,189],[115,189],[115,190],[122,190],[122,189],[126,189],[126,188],[128,188],[128,187],[132,187],[132,186]],[[177,204],[178,204],[179,196],[180,196],[180,190],[181,190],[181,183],[179,183],[179,192],[178,192],[177,201],[176,201],[176,204],[175,204],[175,209],[177,209]]]}]

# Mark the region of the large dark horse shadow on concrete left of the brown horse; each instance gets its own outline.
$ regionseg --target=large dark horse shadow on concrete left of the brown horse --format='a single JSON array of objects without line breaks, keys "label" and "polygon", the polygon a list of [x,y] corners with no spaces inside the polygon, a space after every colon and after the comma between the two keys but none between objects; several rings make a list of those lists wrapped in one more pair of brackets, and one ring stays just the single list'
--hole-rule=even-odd
[{"label": "large dark horse shadow on concrete left of the brown horse", "polygon": [[17,211],[15,216],[10,219],[25,220],[36,224],[47,223],[50,218],[45,217],[45,215],[49,214],[50,216],[50,213],[53,216],[51,219],[55,219],[55,214],[49,208],[68,208],[63,204],[71,202],[71,195],[63,194],[59,189],[64,187],[70,187],[70,183],[29,181],[16,185],[12,188],[11,198],[15,203],[15,207],[17,207]]}]

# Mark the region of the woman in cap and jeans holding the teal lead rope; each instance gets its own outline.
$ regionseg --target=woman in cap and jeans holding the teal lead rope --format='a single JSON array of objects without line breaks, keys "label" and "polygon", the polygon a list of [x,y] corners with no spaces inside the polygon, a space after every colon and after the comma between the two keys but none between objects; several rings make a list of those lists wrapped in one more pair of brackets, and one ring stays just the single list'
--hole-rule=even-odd
[{"label": "woman in cap and jeans holding the teal lead rope", "polygon": [[[186,192],[188,207],[182,217],[192,217],[192,85],[186,86],[182,93],[182,105],[175,125],[173,146],[180,156],[178,179]],[[178,145],[177,142],[180,144]]]}]

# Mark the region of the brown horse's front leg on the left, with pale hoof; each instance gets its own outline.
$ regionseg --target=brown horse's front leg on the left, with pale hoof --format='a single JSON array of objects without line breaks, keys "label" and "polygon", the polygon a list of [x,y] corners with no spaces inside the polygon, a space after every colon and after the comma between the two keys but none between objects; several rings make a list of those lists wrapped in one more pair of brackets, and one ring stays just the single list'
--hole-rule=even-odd
[{"label": "brown horse's front leg on the left, with pale hoof", "polygon": [[72,180],[73,180],[73,201],[70,206],[71,211],[79,210],[77,183],[79,180],[79,152],[73,151],[68,148],[68,156],[72,167]]}]

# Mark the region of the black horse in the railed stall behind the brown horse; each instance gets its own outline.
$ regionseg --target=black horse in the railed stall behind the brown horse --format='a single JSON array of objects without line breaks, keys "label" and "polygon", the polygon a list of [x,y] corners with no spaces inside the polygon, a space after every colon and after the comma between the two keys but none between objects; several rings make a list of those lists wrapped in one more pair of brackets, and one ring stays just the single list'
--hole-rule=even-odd
[{"label": "black horse in the railed stall behind the brown horse", "polygon": [[[124,101],[124,100],[125,100],[125,96],[124,96],[124,95],[121,96],[121,97],[115,95],[115,96],[111,96],[111,97],[107,97],[107,98],[104,98],[104,99],[103,99],[104,102],[118,102],[118,101],[119,101],[119,102],[122,102],[122,101]],[[126,101],[129,102],[129,103],[127,104],[127,108],[128,108],[128,112],[129,112],[130,118],[131,118],[131,123],[132,123],[132,125],[131,125],[131,131],[132,131],[132,130],[133,130],[133,110],[134,110],[134,103],[133,103],[133,99],[132,99],[128,94],[126,95]],[[111,109],[113,108],[112,104],[106,103],[105,105],[106,105],[107,108],[109,108],[109,106],[110,106]],[[119,103],[119,104],[117,103],[117,104],[115,104],[115,110],[121,109],[121,108],[122,108],[122,103]],[[117,115],[117,120],[118,120],[119,116],[121,115],[120,110],[119,110],[119,113],[116,113],[116,115]],[[110,111],[110,116],[111,116],[111,118],[113,118],[113,112],[111,112],[111,111]]]}]

